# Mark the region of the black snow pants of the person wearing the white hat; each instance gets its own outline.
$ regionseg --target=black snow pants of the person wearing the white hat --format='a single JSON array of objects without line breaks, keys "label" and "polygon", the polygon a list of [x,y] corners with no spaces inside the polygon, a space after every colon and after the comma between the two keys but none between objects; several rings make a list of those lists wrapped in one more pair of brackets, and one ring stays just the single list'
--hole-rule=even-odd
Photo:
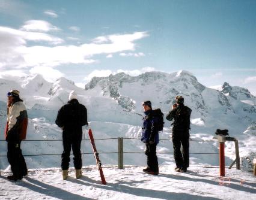
[{"label": "black snow pants of the person wearing the white hat", "polygon": [[70,151],[73,151],[73,161],[75,169],[82,168],[81,158],[81,141],[82,141],[82,128],[76,130],[64,130],[62,135],[63,153],[61,155],[61,169],[69,169]]}]

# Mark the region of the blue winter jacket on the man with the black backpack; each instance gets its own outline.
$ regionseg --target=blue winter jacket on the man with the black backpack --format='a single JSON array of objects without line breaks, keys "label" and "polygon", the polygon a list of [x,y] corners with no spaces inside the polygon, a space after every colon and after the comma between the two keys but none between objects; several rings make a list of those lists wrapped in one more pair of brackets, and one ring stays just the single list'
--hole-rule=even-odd
[{"label": "blue winter jacket on the man with the black backpack", "polygon": [[154,135],[155,143],[159,143],[159,134],[157,129],[158,119],[153,116],[153,111],[148,110],[144,112],[145,117],[143,117],[143,127],[142,127],[142,136],[141,141],[143,143],[148,143],[150,135]]}]

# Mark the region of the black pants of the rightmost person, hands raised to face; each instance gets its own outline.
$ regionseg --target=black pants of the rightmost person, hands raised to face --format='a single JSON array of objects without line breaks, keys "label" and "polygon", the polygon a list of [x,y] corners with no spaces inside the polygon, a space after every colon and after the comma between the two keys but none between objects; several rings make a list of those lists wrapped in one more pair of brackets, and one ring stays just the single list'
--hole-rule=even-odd
[{"label": "black pants of the rightmost person, hands raised to face", "polygon": [[[173,131],[172,143],[177,168],[189,167],[189,131]],[[182,151],[180,147],[182,145]]]}]

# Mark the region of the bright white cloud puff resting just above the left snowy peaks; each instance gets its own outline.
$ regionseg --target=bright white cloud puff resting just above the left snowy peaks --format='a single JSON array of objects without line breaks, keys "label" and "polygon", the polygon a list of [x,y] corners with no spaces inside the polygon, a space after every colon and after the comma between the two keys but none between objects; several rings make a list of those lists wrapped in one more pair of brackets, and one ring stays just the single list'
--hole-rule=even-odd
[{"label": "bright white cloud puff resting just above the left snowy peaks", "polygon": [[35,66],[30,69],[29,72],[31,74],[41,74],[44,79],[49,82],[54,82],[59,77],[64,77],[64,74],[56,69],[52,69],[49,66]]}]

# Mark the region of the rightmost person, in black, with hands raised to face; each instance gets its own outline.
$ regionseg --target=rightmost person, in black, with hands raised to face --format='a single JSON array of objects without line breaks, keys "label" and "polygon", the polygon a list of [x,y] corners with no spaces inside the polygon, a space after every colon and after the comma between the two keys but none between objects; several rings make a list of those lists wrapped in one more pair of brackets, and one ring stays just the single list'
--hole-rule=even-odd
[{"label": "rightmost person, in black, with hands raised to face", "polygon": [[[176,96],[176,103],[166,116],[172,123],[172,144],[174,149],[174,159],[176,163],[175,171],[186,172],[189,167],[189,129],[191,109],[184,105],[183,96]],[[180,147],[182,144],[182,152]]]}]

